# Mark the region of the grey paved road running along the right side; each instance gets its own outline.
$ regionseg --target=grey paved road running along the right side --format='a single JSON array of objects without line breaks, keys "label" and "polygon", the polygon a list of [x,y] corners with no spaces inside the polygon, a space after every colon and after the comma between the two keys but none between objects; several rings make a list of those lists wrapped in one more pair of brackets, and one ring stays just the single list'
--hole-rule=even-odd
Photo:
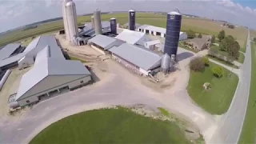
[{"label": "grey paved road running along the right side", "polygon": [[[248,38],[250,32],[248,32]],[[242,124],[246,114],[246,107],[250,92],[250,75],[251,75],[251,50],[250,40],[247,39],[245,62],[241,66],[238,88],[234,94],[234,99],[230,109],[223,115],[219,128],[215,132],[213,143],[237,143],[242,130]],[[220,139],[219,139],[220,138]]]}]

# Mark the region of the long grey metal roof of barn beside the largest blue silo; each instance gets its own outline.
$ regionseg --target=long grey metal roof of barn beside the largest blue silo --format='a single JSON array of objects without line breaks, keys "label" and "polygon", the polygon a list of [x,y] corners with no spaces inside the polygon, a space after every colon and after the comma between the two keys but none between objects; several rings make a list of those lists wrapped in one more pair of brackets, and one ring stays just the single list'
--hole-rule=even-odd
[{"label": "long grey metal roof of barn beside the largest blue silo", "polygon": [[126,61],[133,63],[136,66],[141,67],[143,70],[150,70],[152,66],[161,61],[161,56],[147,50],[146,48],[139,48],[127,43],[121,46],[114,46],[110,48],[110,51],[117,54],[119,57],[126,59]]}]

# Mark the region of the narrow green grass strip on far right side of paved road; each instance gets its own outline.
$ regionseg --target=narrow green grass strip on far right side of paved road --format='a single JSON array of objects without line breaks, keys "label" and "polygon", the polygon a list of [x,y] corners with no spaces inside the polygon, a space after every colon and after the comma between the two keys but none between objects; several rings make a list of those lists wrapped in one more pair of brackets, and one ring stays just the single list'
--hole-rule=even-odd
[{"label": "narrow green grass strip on far right side of paved road", "polygon": [[242,126],[242,133],[239,138],[239,144],[255,143],[256,137],[256,44],[250,42],[251,45],[251,79],[250,79],[250,95],[247,105],[246,118]]}]

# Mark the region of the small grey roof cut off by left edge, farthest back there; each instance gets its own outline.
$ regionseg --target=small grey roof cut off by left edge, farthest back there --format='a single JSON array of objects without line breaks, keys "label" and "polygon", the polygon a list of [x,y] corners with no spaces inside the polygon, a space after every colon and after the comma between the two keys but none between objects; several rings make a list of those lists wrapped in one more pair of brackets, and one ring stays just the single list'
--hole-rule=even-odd
[{"label": "small grey roof cut off by left edge, farthest back there", "polygon": [[0,50],[0,59],[5,59],[10,57],[10,54],[12,54],[15,50],[17,50],[21,46],[20,43],[10,43],[6,46],[4,46]]}]

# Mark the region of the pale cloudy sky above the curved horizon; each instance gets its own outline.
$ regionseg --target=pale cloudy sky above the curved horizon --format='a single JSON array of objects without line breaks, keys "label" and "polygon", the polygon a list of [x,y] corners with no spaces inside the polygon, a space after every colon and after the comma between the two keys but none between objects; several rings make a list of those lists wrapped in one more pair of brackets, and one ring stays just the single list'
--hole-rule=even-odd
[{"label": "pale cloudy sky above the curved horizon", "polygon": [[[78,14],[148,10],[225,20],[256,30],[256,0],[73,0]],[[0,32],[62,16],[61,0],[0,0]]]}]

